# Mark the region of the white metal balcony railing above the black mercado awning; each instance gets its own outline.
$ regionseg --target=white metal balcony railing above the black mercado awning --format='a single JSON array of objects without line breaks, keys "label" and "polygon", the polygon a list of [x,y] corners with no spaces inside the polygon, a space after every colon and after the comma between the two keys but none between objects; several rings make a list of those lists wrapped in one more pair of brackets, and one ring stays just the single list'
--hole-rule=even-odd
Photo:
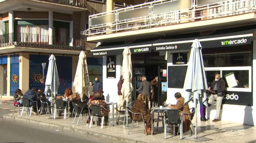
[{"label": "white metal balcony railing above the black mercado awning", "polygon": [[[186,1],[186,2],[185,2]],[[130,31],[164,25],[216,19],[256,11],[256,0],[229,0],[214,4],[192,0],[163,0],[89,16],[89,29],[81,32],[93,36],[108,32]]]}]

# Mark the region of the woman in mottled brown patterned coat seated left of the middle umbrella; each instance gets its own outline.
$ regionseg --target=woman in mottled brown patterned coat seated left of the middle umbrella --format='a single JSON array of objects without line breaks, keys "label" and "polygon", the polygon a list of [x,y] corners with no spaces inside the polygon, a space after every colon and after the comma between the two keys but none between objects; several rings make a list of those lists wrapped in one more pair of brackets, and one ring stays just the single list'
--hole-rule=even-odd
[{"label": "woman in mottled brown patterned coat seated left of the middle umbrella", "polygon": [[[106,104],[105,100],[102,99],[101,93],[95,93],[93,95],[92,101],[89,103],[89,107],[92,107],[92,105],[99,105],[103,108],[101,108],[101,115],[104,115],[104,126],[107,126],[107,121],[108,121],[108,112],[110,111],[108,108],[108,105]],[[100,125],[101,120],[98,120],[98,125]]]}]

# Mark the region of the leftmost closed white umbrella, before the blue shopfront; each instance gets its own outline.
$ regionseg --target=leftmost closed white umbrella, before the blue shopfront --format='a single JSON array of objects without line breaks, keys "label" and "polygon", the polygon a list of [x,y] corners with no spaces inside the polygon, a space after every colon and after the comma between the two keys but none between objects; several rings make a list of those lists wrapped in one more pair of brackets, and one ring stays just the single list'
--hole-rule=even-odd
[{"label": "leftmost closed white umbrella, before the blue shopfront", "polygon": [[60,86],[60,79],[58,78],[56,59],[52,54],[49,57],[48,71],[45,80],[45,93],[48,93],[48,91],[51,90],[51,93],[54,94],[54,96],[57,95],[58,86]]}]

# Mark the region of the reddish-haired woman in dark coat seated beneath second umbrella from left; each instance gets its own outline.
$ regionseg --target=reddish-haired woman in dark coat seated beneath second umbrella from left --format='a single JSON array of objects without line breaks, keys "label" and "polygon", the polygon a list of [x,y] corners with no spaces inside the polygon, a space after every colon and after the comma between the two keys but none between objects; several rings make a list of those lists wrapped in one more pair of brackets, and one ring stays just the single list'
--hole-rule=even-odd
[{"label": "reddish-haired woman in dark coat seated beneath second umbrella from left", "polygon": [[[86,96],[87,97],[87,96]],[[88,98],[87,98],[88,99]],[[86,101],[86,99],[85,99]],[[78,108],[78,113],[81,112],[81,114],[86,114],[87,112],[89,112],[89,108],[88,108],[88,101],[87,102],[82,102],[81,98],[80,98],[80,94],[79,93],[73,93],[73,99],[72,99],[73,104],[77,104],[78,106],[80,106],[81,108],[83,108],[83,111],[81,112],[81,108]],[[90,111],[91,112],[91,111]],[[87,123],[90,123],[90,117],[87,120]]]}]

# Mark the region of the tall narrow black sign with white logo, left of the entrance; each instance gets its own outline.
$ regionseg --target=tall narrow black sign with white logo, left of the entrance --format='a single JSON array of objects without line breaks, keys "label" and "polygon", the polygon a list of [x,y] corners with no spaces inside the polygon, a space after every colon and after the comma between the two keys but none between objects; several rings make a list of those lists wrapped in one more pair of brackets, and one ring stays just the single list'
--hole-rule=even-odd
[{"label": "tall narrow black sign with white logo, left of the entrance", "polygon": [[107,56],[107,78],[116,78],[116,56]]}]

